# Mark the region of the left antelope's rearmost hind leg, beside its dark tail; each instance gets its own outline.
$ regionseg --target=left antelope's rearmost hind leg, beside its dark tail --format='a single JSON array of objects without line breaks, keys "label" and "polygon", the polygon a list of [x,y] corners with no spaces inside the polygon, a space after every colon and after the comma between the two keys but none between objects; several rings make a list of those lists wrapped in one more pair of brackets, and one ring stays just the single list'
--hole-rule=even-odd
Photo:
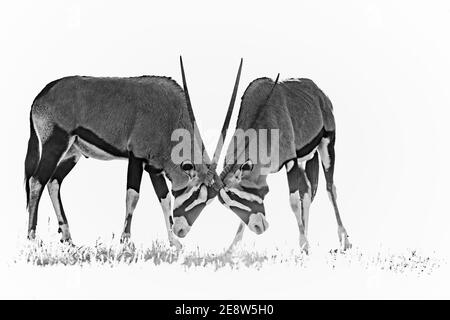
[{"label": "left antelope's rearmost hind leg, beside its dark tail", "polygon": [[69,147],[69,135],[62,130],[53,129],[51,135],[42,143],[39,164],[34,174],[27,181],[29,184],[28,199],[28,238],[34,239],[38,217],[38,206],[42,191],[55,171],[58,162]]}]

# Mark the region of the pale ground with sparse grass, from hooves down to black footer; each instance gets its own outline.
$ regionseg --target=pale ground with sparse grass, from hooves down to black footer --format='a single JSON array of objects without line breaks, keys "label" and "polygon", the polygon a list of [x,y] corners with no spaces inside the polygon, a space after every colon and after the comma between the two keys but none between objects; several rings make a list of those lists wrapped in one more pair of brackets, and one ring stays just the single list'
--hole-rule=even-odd
[{"label": "pale ground with sparse grass, from hooves down to black footer", "polygon": [[116,239],[75,246],[24,241],[2,267],[4,297],[149,299],[440,298],[448,286],[445,259],[415,250],[355,247],[233,253],[150,247]]}]

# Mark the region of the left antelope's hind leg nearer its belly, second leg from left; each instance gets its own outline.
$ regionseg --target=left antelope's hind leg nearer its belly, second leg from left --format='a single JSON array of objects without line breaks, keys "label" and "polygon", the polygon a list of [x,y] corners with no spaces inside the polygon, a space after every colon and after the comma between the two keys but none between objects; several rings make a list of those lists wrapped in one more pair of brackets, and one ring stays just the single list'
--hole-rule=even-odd
[{"label": "left antelope's hind leg nearer its belly, second leg from left", "polygon": [[52,200],[53,208],[55,209],[56,218],[58,219],[58,232],[61,233],[61,242],[70,241],[70,231],[69,224],[67,222],[66,214],[61,202],[61,184],[64,178],[69,174],[69,172],[75,167],[81,154],[72,145],[72,147],[67,151],[64,159],[56,167],[50,181],[47,184],[48,193],[50,199]]}]

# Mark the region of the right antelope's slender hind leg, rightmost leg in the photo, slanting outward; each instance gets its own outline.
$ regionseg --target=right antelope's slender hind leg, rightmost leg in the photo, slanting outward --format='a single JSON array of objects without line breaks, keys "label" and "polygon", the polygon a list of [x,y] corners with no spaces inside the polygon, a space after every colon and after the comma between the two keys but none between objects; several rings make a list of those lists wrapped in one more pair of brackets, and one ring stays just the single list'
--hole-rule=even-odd
[{"label": "right antelope's slender hind leg, rightmost leg in the photo, slanting outward", "polygon": [[336,221],[338,225],[338,237],[341,244],[341,249],[346,250],[352,247],[350,241],[348,240],[347,231],[342,224],[342,219],[339,214],[339,209],[337,205],[337,194],[336,186],[333,181],[334,174],[334,161],[335,161],[335,133],[332,132],[329,137],[323,138],[320,142],[319,153],[320,159],[322,160],[322,168],[325,173],[325,180],[327,182],[327,192],[331,203],[333,204],[334,213],[336,215]]}]

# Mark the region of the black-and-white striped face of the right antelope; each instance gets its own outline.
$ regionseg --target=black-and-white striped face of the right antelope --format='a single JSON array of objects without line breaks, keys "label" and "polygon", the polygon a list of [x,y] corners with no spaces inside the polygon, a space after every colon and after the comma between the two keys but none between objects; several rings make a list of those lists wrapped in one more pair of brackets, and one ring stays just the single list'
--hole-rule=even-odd
[{"label": "black-and-white striped face of the right antelope", "polygon": [[[224,173],[221,174],[223,176]],[[267,230],[264,197],[269,192],[266,176],[248,160],[234,165],[223,177],[224,188],[219,192],[219,201],[230,208],[256,234]]]}]

